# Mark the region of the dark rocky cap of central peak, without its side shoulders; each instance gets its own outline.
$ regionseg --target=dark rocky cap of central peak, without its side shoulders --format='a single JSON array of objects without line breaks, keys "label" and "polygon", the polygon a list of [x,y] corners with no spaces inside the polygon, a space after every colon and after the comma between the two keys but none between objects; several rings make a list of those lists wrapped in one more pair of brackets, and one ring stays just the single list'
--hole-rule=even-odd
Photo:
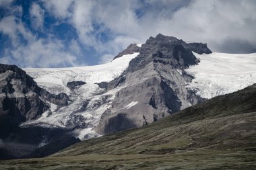
[{"label": "dark rocky cap of central peak, without its side shoulders", "polygon": [[[193,48],[197,49],[196,46]],[[176,69],[185,69],[199,62],[186,42],[162,34],[156,38],[150,37],[139,52],[139,56],[129,63],[128,72],[143,69],[149,62],[160,62]]]}]

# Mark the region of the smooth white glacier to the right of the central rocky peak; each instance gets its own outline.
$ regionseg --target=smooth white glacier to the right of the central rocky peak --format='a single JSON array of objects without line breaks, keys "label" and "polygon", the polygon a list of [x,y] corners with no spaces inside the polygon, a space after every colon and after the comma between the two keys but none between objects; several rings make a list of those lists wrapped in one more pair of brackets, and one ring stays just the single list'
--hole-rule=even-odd
[{"label": "smooth white glacier to the right of the central rocky peak", "polygon": [[256,53],[193,54],[200,62],[185,70],[194,77],[187,88],[197,91],[201,97],[209,99],[256,83]]}]

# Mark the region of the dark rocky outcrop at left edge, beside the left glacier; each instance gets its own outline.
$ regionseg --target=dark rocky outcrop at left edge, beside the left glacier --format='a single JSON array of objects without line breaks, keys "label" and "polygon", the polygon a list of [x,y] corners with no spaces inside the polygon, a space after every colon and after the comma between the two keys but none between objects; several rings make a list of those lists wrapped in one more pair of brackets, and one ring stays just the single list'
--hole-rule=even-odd
[{"label": "dark rocky outcrop at left edge, beside the left glacier", "polygon": [[[15,65],[1,64],[0,73],[0,121],[9,122],[7,126],[39,118],[49,109],[47,101],[57,105],[68,102],[65,93],[53,95],[38,87],[32,77]],[[0,132],[0,136],[5,133]]]}]

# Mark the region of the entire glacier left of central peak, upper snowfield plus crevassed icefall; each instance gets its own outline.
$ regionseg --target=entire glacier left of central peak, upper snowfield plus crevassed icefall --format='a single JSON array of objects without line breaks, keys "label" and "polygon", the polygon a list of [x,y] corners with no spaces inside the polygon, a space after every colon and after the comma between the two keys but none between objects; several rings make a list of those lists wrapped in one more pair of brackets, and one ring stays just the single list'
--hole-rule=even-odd
[{"label": "entire glacier left of central peak, upper snowfield plus crevassed icefall", "polygon": [[[24,69],[34,78],[38,86],[51,93],[66,93],[70,102],[62,108],[51,103],[50,110],[37,120],[25,122],[21,126],[59,126],[73,130],[81,139],[99,136],[93,128],[98,125],[102,113],[110,107],[115,93],[122,87],[102,93],[95,83],[109,82],[119,77],[139,52],[123,55],[104,65],[71,68]],[[71,90],[67,83],[72,81],[86,82],[77,89]]]}]

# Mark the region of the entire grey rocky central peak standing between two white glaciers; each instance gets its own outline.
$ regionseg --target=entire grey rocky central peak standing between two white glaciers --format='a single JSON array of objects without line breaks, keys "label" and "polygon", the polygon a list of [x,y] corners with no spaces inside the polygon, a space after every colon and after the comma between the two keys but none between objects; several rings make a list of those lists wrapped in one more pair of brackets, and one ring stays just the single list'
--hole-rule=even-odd
[{"label": "entire grey rocky central peak standing between two white glaciers", "polygon": [[108,90],[121,90],[102,114],[97,132],[111,134],[137,128],[203,101],[185,88],[192,78],[184,69],[199,62],[192,51],[209,52],[206,48],[162,34],[150,37],[123,75],[108,83]]}]

